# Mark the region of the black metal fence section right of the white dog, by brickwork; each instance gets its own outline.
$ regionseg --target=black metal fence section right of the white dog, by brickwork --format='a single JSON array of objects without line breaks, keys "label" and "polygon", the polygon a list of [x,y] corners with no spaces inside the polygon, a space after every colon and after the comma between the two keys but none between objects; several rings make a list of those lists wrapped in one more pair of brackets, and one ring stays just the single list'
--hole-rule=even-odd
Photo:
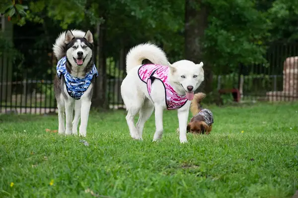
[{"label": "black metal fence section right of the white dog, by brickwork", "polygon": [[215,75],[214,88],[237,89],[241,100],[294,101],[298,99],[298,43],[268,46],[263,64],[244,66],[229,75]]}]

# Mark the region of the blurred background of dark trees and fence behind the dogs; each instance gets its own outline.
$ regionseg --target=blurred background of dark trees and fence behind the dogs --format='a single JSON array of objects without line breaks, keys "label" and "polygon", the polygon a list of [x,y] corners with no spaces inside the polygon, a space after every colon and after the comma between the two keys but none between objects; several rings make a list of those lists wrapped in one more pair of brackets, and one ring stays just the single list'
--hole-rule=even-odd
[{"label": "blurred background of dark trees and fence behind the dogs", "polygon": [[203,61],[205,102],[298,99],[297,0],[1,0],[0,13],[0,113],[56,111],[52,46],[67,29],[93,33],[96,108],[125,108],[126,54],[144,42]]}]

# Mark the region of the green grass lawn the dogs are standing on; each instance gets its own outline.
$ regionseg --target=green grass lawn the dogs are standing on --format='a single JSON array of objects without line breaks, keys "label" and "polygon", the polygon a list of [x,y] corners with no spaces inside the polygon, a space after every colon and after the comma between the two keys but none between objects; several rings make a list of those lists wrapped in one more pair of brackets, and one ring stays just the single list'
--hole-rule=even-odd
[{"label": "green grass lawn the dogs are standing on", "polygon": [[89,147],[79,137],[45,132],[58,128],[58,116],[1,115],[0,198],[292,197],[298,103],[210,108],[212,133],[190,134],[188,144],[179,143],[176,111],[164,112],[157,143],[154,115],[144,141],[134,141],[125,111],[93,112]]}]

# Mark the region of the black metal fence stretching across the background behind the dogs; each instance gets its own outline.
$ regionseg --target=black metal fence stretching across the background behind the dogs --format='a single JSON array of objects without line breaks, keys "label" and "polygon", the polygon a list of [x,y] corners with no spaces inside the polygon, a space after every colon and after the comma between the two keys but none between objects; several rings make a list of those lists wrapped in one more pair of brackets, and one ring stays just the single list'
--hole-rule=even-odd
[{"label": "black metal fence stretching across the background behind the dogs", "polygon": [[[0,55],[0,113],[57,112],[53,90],[57,60],[52,49],[18,49],[19,55]],[[115,58],[116,59],[116,58]],[[106,59],[105,97],[110,108],[125,107],[120,86],[124,62]],[[119,59],[119,58],[118,58]],[[267,63],[243,66],[228,75],[214,74],[213,89],[239,92],[240,101],[293,101],[298,99],[298,43],[269,46]],[[228,97],[230,97],[229,95]]]}]

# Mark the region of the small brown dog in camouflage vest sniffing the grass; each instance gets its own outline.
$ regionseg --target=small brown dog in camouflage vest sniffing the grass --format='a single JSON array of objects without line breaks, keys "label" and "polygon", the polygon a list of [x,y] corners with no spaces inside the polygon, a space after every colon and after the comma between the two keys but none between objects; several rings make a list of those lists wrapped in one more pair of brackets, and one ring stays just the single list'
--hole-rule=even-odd
[{"label": "small brown dog in camouflage vest sniffing the grass", "polygon": [[201,101],[206,97],[206,94],[197,93],[190,104],[190,111],[193,115],[187,125],[187,132],[193,134],[209,134],[214,123],[213,114],[207,108],[201,107]]}]

